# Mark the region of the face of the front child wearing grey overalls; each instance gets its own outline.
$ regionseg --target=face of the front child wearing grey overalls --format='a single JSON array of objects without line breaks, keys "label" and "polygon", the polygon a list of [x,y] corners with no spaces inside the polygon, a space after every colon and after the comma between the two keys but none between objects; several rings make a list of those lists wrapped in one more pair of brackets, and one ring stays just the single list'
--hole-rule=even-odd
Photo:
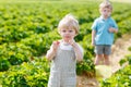
[{"label": "face of the front child wearing grey overalls", "polygon": [[64,41],[69,42],[70,40],[74,39],[76,33],[75,33],[74,29],[64,29],[64,28],[62,28],[60,30],[60,35],[61,35],[61,37],[62,37],[62,39]]}]

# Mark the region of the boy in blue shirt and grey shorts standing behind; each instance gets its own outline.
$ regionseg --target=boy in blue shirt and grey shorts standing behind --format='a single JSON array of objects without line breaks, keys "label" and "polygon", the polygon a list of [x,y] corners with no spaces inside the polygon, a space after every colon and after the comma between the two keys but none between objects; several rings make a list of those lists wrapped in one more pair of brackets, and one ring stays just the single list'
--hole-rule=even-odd
[{"label": "boy in blue shirt and grey shorts standing behind", "polygon": [[95,65],[109,65],[109,54],[114,44],[114,34],[118,33],[118,26],[110,14],[112,5],[109,1],[99,4],[100,16],[92,25],[92,45],[95,46]]}]

